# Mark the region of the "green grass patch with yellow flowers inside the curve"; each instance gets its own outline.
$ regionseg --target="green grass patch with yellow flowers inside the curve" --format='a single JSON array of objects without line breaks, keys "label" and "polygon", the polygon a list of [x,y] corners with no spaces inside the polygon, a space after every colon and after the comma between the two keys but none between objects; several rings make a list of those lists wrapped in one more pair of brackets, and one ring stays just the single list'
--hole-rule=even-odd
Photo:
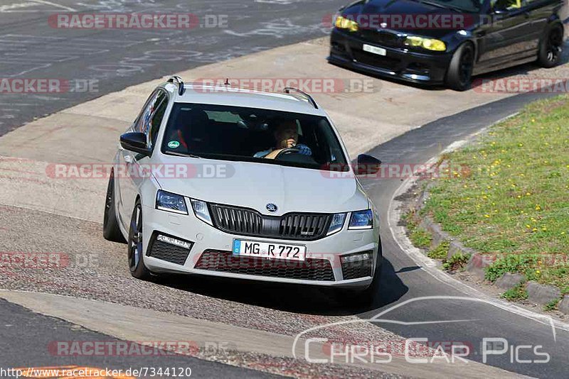
[{"label": "green grass patch with yellow flowers inside the curve", "polygon": [[425,212],[465,246],[501,257],[489,280],[523,273],[568,293],[568,120],[567,95],[538,101],[445,156]]}]

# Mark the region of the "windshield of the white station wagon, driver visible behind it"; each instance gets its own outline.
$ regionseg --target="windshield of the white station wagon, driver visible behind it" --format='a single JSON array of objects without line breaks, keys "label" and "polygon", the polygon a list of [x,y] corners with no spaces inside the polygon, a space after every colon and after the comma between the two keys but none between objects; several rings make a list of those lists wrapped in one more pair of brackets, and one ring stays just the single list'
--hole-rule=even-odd
[{"label": "windshield of the white station wagon, driver visible behind it", "polygon": [[212,104],[174,104],[162,152],[325,169],[346,157],[324,116]]}]

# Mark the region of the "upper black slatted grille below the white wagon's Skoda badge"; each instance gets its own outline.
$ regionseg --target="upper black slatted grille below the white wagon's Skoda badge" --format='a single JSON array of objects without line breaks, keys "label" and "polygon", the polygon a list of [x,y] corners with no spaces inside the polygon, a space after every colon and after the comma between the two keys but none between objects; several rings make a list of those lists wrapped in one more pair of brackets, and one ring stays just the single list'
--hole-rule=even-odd
[{"label": "upper black slatted grille below the white wagon's Skoda badge", "polygon": [[265,216],[254,209],[210,204],[213,226],[233,234],[311,241],[326,235],[331,214]]}]

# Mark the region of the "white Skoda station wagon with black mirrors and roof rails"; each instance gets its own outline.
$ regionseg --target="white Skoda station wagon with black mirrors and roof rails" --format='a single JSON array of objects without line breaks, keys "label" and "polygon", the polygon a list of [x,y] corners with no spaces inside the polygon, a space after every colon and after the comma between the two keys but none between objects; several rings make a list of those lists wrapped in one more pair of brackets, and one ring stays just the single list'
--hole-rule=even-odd
[{"label": "white Skoda station wagon with black mirrors and roof rails", "polygon": [[[304,92],[171,77],[120,137],[104,236],[134,278],[188,273],[317,285],[371,299],[378,212],[329,116]],[[124,238],[124,239],[123,239]],[[356,295],[356,296],[354,296]]]}]

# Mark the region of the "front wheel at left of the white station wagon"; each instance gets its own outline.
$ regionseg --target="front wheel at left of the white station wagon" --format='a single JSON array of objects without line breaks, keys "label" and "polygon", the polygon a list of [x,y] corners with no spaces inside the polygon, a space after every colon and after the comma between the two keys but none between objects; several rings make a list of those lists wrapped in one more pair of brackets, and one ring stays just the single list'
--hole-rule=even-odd
[{"label": "front wheel at left of the white station wagon", "polygon": [[149,280],[150,270],[144,265],[144,239],[142,235],[142,205],[137,199],[132,211],[129,228],[129,241],[127,246],[130,274],[140,280]]}]

